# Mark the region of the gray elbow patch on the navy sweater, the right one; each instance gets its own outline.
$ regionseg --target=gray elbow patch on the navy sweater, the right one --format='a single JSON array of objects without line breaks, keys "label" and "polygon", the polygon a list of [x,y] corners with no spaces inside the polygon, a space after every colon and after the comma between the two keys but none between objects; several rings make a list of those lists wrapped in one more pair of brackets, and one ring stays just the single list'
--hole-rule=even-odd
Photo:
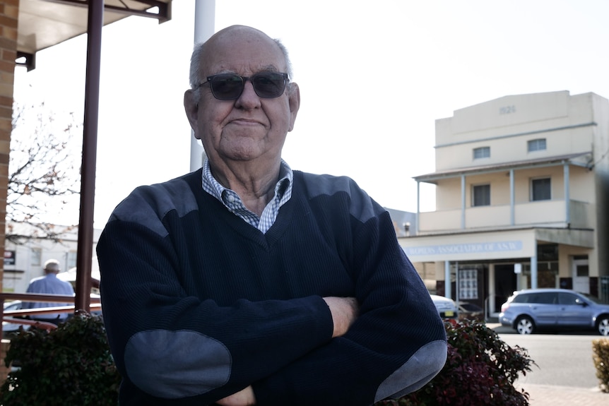
[{"label": "gray elbow patch on the navy sweater, the right one", "polygon": [[425,386],[444,367],[447,359],[447,342],[432,341],[420,347],[406,364],[403,364],[379,386],[374,402],[385,398],[399,398]]}]

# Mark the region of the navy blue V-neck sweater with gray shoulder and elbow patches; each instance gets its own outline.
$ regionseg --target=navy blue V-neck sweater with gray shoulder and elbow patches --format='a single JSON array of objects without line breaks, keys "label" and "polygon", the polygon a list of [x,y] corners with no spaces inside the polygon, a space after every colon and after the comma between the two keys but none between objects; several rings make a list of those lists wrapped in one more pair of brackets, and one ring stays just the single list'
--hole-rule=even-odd
[{"label": "navy blue V-neck sweater with gray shoulder and elbow patches", "polygon": [[[97,244],[122,406],[372,405],[444,366],[444,326],[389,214],[351,179],[294,172],[263,234],[201,188],[201,170],[142,186]],[[322,297],[360,316],[331,338]]]}]

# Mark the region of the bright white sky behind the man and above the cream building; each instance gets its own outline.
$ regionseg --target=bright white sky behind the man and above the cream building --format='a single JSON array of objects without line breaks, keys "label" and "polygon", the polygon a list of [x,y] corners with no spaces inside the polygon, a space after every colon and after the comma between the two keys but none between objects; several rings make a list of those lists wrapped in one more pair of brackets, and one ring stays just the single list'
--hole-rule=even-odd
[{"label": "bright white sky behind the man and above the cream building", "polygon": [[[190,170],[194,4],[174,0],[167,23],[129,17],[102,31],[95,228],[136,186]],[[434,172],[437,119],[505,95],[609,98],[608,19],[605,0],[215,1],[215,31],[251,25],[290,52],[301,95],[283,149],[292,169],[351,177],[410,212],[412,178]],[[85,62],[85,35],[42,50],[33,71],[16,69],[16,101],[83,117]],[[434,210],[432,186],[420,192],[420,210]],[[78,199],[53,221],[78,224]]]}]

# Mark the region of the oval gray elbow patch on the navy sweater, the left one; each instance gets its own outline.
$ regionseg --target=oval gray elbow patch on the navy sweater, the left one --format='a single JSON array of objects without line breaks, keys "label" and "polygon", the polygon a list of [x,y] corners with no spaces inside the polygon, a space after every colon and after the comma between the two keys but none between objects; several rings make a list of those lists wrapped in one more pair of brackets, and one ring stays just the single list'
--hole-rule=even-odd
[{"label": "oval gray elbow patch on the navy sweater, the left one", "polygon": [[158,398],[201,395],[227,383],[231,356],[222,342],[192,330],[147,330],[125,347],[125,368],[138,388]]}]

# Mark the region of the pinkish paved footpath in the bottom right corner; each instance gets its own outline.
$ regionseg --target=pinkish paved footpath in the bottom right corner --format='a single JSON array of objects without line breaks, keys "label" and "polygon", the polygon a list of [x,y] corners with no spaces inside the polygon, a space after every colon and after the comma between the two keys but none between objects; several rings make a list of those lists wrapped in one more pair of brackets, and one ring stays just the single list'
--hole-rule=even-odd
[{"label": "pinkish paved footpath in the bottom right corner", "polygon": [[[502,330],[511,330],[502,327],[499,323],[487,323],[501,333]],[[575,386],[538,385],[535,383],[523,383],[517,388],[524,389],[529,395],[531,406],[609,406],[609,393],[601,392],[598,386],[593,388],[578,388]]]}]

